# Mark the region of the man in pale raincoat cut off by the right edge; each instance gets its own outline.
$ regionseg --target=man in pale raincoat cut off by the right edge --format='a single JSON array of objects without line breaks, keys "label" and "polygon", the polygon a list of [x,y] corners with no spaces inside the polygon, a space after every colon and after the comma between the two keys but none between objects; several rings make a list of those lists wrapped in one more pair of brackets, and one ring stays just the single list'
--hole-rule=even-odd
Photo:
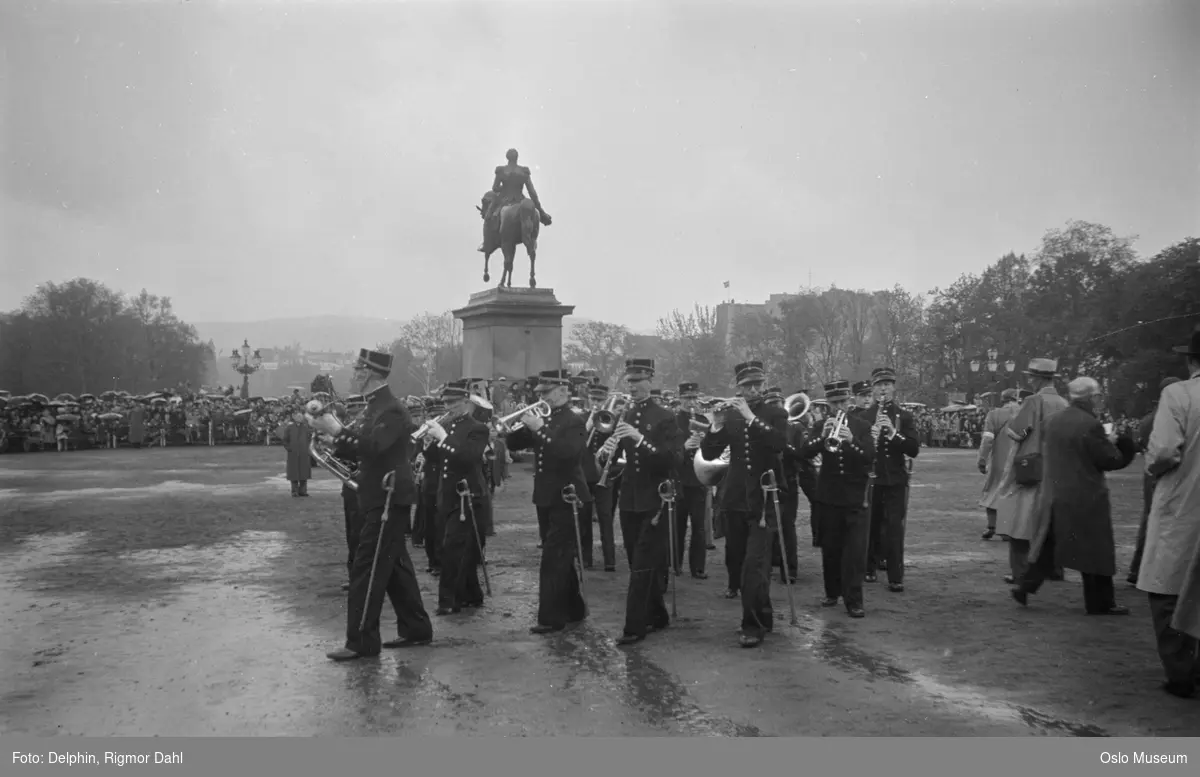
[{"label": "man in pale raincoat cut off by the right edge", "polygon": [[1163,390],[1146,447],[1154,495],[1138,589],[1150,597],[1168,693],[1200,688],[1200,324],[1175,353],[1188,379]]}]

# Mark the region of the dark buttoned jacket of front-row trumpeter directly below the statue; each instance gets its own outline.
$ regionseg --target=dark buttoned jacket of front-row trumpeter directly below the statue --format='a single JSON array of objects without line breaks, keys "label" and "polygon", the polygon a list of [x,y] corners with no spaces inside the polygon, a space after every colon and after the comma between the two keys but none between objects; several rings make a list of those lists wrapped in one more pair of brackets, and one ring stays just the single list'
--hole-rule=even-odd
[{"label": "dark buttoned jacket of front-row trumpeter directly below the statue", "polygon": [[562,505],[563,488],[575,486],[580,501],[592,501],[583,478],[582,453],[588,441],[583,418],[568,405],[554,408],[536,432],[522,427],[509,434],[514,451],[533,448],[533,504],[539,507]]}]

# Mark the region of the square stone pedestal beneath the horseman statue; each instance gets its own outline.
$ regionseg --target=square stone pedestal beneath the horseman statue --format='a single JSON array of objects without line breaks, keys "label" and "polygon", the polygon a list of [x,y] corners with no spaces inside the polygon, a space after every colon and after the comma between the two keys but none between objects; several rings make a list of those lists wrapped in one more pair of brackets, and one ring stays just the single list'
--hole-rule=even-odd
[{"label": "square stone pedestal beneath the horseman statue", "polygon": [[563,317],[553,289],[488,289],[454,311],[462,321],[462,374],[466,378],[522,380],[563,367]]}]

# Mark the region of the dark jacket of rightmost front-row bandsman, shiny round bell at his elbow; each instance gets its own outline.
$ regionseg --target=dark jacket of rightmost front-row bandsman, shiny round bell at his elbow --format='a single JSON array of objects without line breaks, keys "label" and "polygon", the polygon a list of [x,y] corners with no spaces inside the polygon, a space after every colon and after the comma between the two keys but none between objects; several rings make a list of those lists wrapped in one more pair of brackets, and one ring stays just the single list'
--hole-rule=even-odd
[{"label": "dark jacket of rightmost front-row bandsman, shiny round bell at his elbow", "polygon": [[780,454],[787,446],[787,411],[761,399],[751,405],[755,420],[746,422],[738,412],[725,414],[725,426],[709,432],[700,450],[712,460],[730,448],[730,469],[718,490],[721,507],[732,512],[758,513],[763,507],[762,476],[775,472],[784,487]]}]

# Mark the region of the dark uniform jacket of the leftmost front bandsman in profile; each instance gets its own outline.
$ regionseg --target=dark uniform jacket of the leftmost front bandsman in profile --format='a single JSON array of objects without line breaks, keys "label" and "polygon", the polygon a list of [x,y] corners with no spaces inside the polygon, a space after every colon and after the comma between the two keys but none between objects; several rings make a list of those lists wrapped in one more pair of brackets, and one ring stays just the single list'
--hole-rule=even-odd
[{"label": "dark uniform jacket of the leftmost front bandsman in profile", "polygon": [[348,458],[358,456],[359,508],[362,512],[384,506],[388,492],[383,477],[388,472],[395,472],[391,504],[416,502],[410,436],[415,430],[408,408],[383,385],[367,399],[359,429],[337,436],[338,451],[346,450]]}]

